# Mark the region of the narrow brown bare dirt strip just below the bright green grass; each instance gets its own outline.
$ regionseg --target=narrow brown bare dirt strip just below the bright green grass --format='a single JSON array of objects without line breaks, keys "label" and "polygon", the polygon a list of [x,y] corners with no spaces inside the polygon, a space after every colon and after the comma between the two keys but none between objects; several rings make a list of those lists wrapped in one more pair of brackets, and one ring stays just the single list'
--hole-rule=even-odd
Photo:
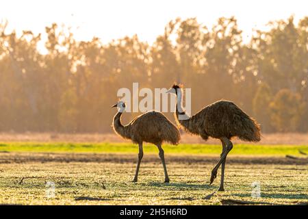
[{"label": "narrow brown bare dirt strip just below the bright green grass", "polygon": [[[0,153],[0,164],[22,164],[32,162],[111,162],[136,163],[138,155],[123,153]],[[180,164],[216,164],[219,156],[209,155],[168,155],[166,162]],[[160,162],[158,155],[144,155],[143,163]],[[229,164],[294,164],[307,165],[308,159],[288,159],[268,156],[229,156]]]}]

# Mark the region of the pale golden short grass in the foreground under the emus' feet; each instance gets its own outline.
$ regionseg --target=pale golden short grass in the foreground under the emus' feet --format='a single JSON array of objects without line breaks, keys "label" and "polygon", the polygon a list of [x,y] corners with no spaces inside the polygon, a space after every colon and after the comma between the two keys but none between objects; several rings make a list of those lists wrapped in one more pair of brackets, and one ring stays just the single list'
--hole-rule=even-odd
[{"label": "pale golden short grass in the foreground under the emus' feet", "polygon": [[[308,202],[307,166],[281,164],[227,164],[226,192],[216,192],[205,200],[218,190],[220,172],[213,185],[208,183],[213,166],[170,162],[170,183],[163,183],[159,162],[142,163],[138,183],[131,183],[136,168],[133,162],[1,164],[0,204],[221,205],[222,199],[229,198],[290,205]],[[55,185],[55,196],[47,196],[49,181]],[[256,181],[261,198],[251,197],[251,185]],[[88,200],[78,201],[80,197]]]}]

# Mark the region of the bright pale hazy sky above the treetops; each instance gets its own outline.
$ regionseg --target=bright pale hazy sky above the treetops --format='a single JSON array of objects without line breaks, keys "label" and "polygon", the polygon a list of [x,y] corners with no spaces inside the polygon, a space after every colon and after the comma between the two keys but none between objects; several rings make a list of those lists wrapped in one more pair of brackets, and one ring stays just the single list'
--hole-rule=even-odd
[{"label": "bright pale hazy sky above the treetops", "polygon": [[9,29],[43,32],[51,23],[73,27],[78,40],[98,36],[103,42],[138,34],[153,42],[171,19],[196,17],[211,27],[220,16],[238,18],[244,38],[253,28],[264,28],[271,20],[308,16],[307,0],[2,0],[0,19]]}]

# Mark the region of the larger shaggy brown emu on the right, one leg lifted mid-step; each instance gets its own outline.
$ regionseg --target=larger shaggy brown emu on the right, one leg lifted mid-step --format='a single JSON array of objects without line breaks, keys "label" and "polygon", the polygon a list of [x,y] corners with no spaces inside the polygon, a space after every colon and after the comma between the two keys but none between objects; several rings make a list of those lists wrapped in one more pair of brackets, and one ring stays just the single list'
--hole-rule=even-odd
[{"label": "larger shaggy brown emu on the right, one leg lifted mid-step", "polygon": [[[220,161],[211,170],[210,185],[217,175],[217,170],[221,168],[221,179],[219,191],[224,191],[224,164],[228,153],[233,148],[231,138],[238,137],[248,142],[259,142],[260,127],[257,122],[245,114],[240,107],[230,101],[217,101],[204,107],[201,111],[189,116],[183,110],[183,90],[182,86],[173,85],[168,93],[177,95],[177,108],[175,118],[180,127],[189,133],[199,135],[203,140],[209,137],[218,138],[222,142],[222,153]],[[181,118],[179,118],[181,116]]]}]

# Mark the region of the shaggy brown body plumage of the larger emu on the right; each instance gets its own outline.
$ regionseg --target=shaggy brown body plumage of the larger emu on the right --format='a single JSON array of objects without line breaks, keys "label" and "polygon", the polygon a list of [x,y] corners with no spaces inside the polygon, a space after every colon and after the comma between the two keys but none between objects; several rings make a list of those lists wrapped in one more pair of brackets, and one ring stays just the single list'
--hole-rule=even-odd
[{"label": "shaggy brown body plumage of the larger emu on the right", "polygon": [[176,112],[177,123],[185,131],[200,135],[204,140],[209,137],[238,137],[248,142],[260,140],[259,124],[231,101],[222,100],[207,105],[188,120],[178,120],[179,111]]}]

